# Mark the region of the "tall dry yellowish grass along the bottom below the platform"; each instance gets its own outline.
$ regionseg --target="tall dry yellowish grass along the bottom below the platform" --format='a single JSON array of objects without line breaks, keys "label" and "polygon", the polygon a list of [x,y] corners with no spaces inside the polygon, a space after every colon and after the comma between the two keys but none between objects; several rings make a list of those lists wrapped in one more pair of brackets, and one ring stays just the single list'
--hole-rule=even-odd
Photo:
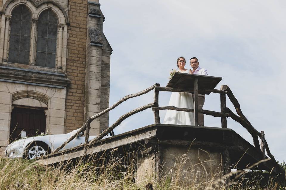
[{"label": "tall dry yellowish grass along the bottom below the platform", "polygon": [[[132,159],[128,159],[132,160]],[[150,179],[153,189],[191,190],[191,189],[279,189],[272,183],[272,178],[261,174],[240,172],[223,175],[217,172],[212,175],[198,175],[204,163],[190,166],[195,175],[188,178],[185,155],[177,159],[172,168],[173,175],[164,173],[160,181]],[[105,163],[105,164],[102,164]],[[57,167],[45,167],[34,161],[21,159],[0,159],[0,189],[145,189],[147,183],[136,182],[136,164],[112,157],[109,162],[104,158],[88,163],[78,162],[75,166],[62,164]],[[190,171],[190,170],[188,170]],[[253,175],[252,177],[249,177]],[[202,177],[203,176],[203,177]],[[266,180],[265,180],[266,179]],[[266,184],[262,183],[267,181]],[[263,185],[264,184],[264,185]],[[281,188],[285,189],[285,188]],[[286,190],[286,189],[285,189]]]}]

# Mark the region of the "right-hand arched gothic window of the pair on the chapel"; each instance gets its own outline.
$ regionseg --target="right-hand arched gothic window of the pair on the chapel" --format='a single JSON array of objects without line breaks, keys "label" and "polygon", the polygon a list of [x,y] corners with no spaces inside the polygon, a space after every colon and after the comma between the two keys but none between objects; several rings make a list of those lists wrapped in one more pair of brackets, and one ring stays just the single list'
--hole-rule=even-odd
[{"label": "right-hand arched gothic window of the pair on the chapel", "polygon": [[57,16],[47,9],[38,21],[36,65],[55,68],[57,47]]}]

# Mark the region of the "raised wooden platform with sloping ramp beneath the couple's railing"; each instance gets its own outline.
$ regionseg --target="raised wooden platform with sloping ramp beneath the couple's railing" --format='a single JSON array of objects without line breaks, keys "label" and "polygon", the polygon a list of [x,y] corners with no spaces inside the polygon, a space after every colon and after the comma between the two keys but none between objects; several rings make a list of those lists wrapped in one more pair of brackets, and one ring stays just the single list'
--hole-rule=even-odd
[{"label": "raised wooden platform with sloping ramp beneath the couple's railing", "polygon": [[[113,148],[130,147],[138,150],[147,145],[191,146],[212,151],[228,151],[230,165],[245,169],[263,159],[262,152],[244,140],[232,129],[218,127],[182,126],[169,124],[152,124],[133,131],[98,140],[85,149],[83,145],[66,151],[46,155],[40,159],[44,165],[63,161],[86,158],[95,153],[107,153]],[[271,171],[276,163],[269,160],[257,165],[256,169]]]}]

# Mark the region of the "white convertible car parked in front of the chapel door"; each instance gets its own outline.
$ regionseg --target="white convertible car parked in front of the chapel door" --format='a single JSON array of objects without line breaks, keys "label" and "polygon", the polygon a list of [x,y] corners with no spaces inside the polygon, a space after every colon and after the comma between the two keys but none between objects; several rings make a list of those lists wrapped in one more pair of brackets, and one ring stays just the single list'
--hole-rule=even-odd
[{"label": "white convertible car parked in front of the chapel door", "polygon": [[[5,149],[5,156],[8,158],[27,158],[34,159],[35,157],[44,156],[51,153],[53,150],[62,145],[71,135],[76,133],[79,129],[67,134],[53,134],[24,138],[16,140]],[[112,132],[114,135],[114,133]],[[84,143],[85,137],[81,132],[71,142],[69,142],[60,151],[76,147]],[[94,139],[96,136],[90,136],[88,140]]]}]

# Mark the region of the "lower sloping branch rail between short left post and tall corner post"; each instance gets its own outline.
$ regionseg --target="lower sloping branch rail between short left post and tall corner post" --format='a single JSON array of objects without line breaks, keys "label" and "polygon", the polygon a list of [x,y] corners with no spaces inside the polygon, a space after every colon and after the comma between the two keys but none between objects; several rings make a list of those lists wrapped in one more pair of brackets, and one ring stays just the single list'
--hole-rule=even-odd
[{"label": "lower sloping branch rail between short left post and tall corner post", "polygon": [[151,103],[151,104],[147,104],[147,105],[144,105],[144,106],[141,106],[141,107],[138,107],[128,113],[125,113],[124,115],[122,115],[119,119],[117,119],[117,121],[110,127],[108,127],[107,129],[105,129],[102,133],[100,133],[96,138],[92,139],[91,141],[89,141],[90,143],[94,142],[94,141],[97,141],[97,140],[100,140],[102,139],[102,137],[104,137],[106,134],[110,133],[116,126],[118,126],[119,124],[121,124],[121,122],[123,120],[125,120],[126,118],[128,118],[129,116],[135,114],[135,113],[138,113],[138,112],[141,112],[143,110],[146,110],[148,108],[151,108],[151,107],[154,107],[155,103]]}]

